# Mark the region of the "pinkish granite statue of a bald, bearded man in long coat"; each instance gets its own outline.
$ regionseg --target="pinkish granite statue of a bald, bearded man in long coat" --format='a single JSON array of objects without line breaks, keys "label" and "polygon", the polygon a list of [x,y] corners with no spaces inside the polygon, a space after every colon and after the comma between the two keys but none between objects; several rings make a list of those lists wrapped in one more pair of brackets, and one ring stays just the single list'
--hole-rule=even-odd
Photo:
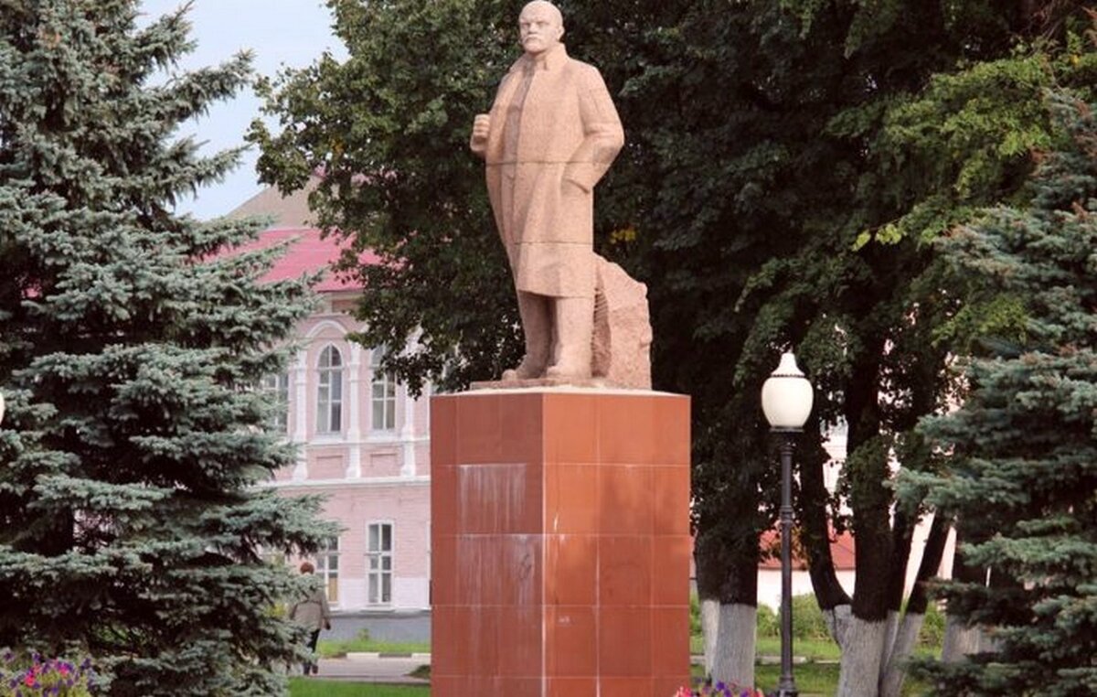
[{"label": "pinkish granite statue of a bald, bearded man in long coat", "polygon": [[[530,2],[518,29],[523,54],[502,76],[490,111],[475,116],[468,140],[484,158],[525,340],[522,362],[502,379],[583,380],[592,374],[601,280],[593,190],[624,146],[624,130],[598,69],[568,56],[564,18],[555,5]],[[615,317],[602,314],[610,322]],[[619,334],[625,331],[613,336]],[[618,345],[614,339],[600,346]]]}]

